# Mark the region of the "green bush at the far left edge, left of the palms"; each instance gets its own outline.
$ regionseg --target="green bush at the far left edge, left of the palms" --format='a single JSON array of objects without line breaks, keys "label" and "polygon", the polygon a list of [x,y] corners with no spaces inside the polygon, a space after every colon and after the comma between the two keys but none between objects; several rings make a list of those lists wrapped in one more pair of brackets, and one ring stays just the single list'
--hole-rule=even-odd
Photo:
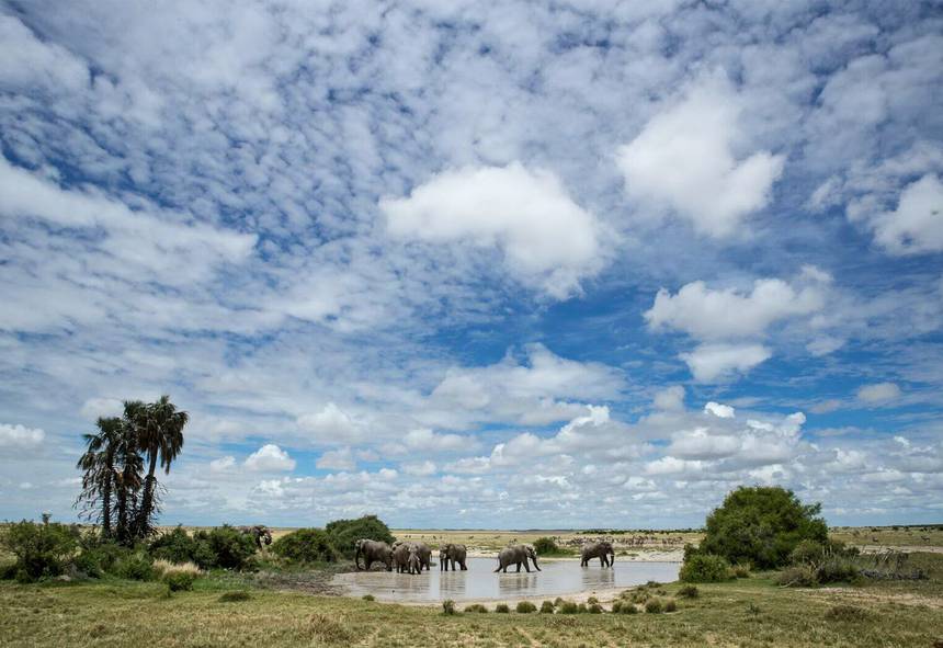
[{"label": "green bush at the far left edge, left of the palms", "polygon": [[16,579],[27,582],[63,573],[79,546],[78,530],[56,522],[23,520],[0,533],[0,546],[16,558],[11,568]]}]

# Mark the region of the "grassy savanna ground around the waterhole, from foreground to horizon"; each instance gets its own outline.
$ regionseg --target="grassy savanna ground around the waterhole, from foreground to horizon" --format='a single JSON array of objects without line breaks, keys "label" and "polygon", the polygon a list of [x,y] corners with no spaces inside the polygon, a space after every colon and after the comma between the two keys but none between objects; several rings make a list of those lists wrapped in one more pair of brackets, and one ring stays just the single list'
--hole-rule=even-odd
[{"label": "grassy savanna ground around the waterhole, from foreground to horizon", "polygon": [[[289,530],[273,530],[277,539]],[[587,533],[394,531],[397,537],[462,542],[493,555],[510,542],[554,537],[555,559]],[[593,532],[590,532],[593,533]],[[696,531],[615,532],[620,560],[696,544]],[[352,562],[202,571],[186,591],[162,580],[117,577],[0,583],[4,646],[943,646],[943,530],[833,527],[830,539],[868,556],[905,555],[920,579],[784,587],[777,572],[741,570],[723,582],[648,583],[629,590],[526,603],[402,605],[355,599],[330,587]],[[633,539],[636,538],[636,539]],[[647,538],[639,541],[638,538]],[[680,538],[680,539],[679,539]],[[620,543],[622,539],[622,543]],[[632,547],[629,544],[641,544]],[[9,560],[10,556],[3,557]],[[899,558],[898,558],[899,559]],[[434,567],[439,569],[439,567]],[[600,569],[593,564],[588,569]],[[416,578],[425,578],[419,576]],[[497,578],[497,576],[496,576]],[[595,594],[595,595],[593,595]],[[582,602],[578,605],[576,601]],[[654,603],[657,602],[657,603]],[[589,603],[589,605],[587,605]],[[504,606],[507,605],[507,607]],[[629,607],[632,609],[629,611]],[[507,612],[504,612],[507,610]]]}]

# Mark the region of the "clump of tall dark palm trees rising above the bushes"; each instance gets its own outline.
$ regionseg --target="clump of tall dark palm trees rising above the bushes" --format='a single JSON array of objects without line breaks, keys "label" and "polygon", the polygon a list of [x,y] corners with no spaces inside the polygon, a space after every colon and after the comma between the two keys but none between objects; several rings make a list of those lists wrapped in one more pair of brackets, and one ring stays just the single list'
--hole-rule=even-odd
[{"label": "clump of tall dark palm trees rising above the bushes", "polygon": [[77,467],[84,476],[76,505],[101,524],[103,536],[129,545],[154,532],[157,465],[170,473],[183,450],[188,420],[169,396],[156,402],[128,400],[121,417],[100,418],[98,432],[83,435],[87,447]]}]

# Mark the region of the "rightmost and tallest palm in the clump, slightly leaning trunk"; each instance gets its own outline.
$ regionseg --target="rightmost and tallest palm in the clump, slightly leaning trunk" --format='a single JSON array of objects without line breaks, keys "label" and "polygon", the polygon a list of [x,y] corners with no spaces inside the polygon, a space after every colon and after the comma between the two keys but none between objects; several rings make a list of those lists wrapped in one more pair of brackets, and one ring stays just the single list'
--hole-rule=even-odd
[{"label": "rightmost and tallest palm in the clump, slightly leaning trunk", "polygon": [[161,396],[157,402],[135,408],[133,421],[137,430],[140,450],[147,454],[148,470],[144,480],[144,493],[135,523],[135,535],[144,537],[151,531],[150,519],[155,510],[157,487],[157,461],[166,474],[180,451],[183,450],[183,427],[190,420],[184,411],[178,411],[169,396]]}]

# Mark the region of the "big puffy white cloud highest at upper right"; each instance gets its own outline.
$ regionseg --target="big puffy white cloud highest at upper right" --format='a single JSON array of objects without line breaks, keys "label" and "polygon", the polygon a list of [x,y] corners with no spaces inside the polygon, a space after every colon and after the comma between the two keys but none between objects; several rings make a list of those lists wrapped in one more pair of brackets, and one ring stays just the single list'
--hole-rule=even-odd
[{"label": "big puffy white cloud highest at upper right", "polygon": [[725,75],[706,75],[621,147],[617,163],[629,197],[667,205],[702,234],[738,234],[770,200],[784,156],[737,157],[743,145],[741,100]]}]

